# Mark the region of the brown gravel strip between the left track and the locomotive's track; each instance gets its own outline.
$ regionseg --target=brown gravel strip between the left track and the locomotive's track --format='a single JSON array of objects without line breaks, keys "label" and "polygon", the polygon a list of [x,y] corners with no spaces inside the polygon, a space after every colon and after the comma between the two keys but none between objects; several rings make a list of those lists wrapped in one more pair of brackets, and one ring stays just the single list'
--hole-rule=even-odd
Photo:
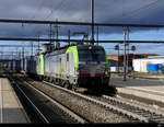
[{"label": "brown gravel strip between the left track and the locomotive's track", "polygon": [[34,85],[58,102],[67,105],[81,116],[85,117],[91,123],[133,123],[130,118],[127,118],[124,115],[71,95],[62,90],[38,82],[35,82]]}]

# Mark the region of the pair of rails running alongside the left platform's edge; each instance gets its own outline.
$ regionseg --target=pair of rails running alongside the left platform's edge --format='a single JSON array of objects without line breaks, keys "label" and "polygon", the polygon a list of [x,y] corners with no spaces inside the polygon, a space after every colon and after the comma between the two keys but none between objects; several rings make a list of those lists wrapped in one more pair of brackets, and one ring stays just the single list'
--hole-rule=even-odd
[{"label": "pair of rails running alongside the left platform's edge", "polygon": [[[13,80],[13,78],[10,77],[10,80],[12,81],[12,83],[14,83],[16,85],[16,88],[19,89],[19,91],[21,91],[21,93],[26,97],[26,100],[31,103],[31,105],[33,106],[33,108],[35,109],[35,112],[37,113],[37,115],[39,116],[42,123],[46,123],[46,124],[50,124],[54,123],[51,120],[49,120],[50,118],[48,118],[46,115],[44,115],[43,111],[39,109],[39,107],[37,107],[35,105],[35,103],[26,95],[26,93],[19,86],[17,80]],[[20,79],[19,79],[20,80]],[[21,81],[23,82],[23,81]],[[67,114],[67,116],[70,117],[70,119],[73,119],[73,122],[75,122],[77,124],[84,124],[87,123],[85,119],[83,119],[81,116],[74,114],[72,111],[70,111],[68,107],[63,106],[62,104],[60,104],[59,102],[55,101],[54,99],[51,99],[50,96],[48,96],[46,93],[42,92],[40,90],[34,88],[31,83],[28,82],[23,82],[26,83],[31,89],[33,89],[36,93],[39,93],[43,97],[45,97],[46,100],[50,101],[54,105],[58,106],[58,108],[60,108],[60,111],[62,111],[65,114]]]}]

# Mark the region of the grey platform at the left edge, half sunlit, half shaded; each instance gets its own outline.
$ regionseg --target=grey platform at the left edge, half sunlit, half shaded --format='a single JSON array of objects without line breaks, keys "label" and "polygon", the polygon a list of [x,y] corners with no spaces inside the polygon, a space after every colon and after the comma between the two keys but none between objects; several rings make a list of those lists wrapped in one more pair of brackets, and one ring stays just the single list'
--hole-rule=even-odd
[{"label": "grey platform at the left edge, half sunlit, half shaded", "polygon": [[10,81],[0,78],[0,123],[27,124],[31,123]]}]

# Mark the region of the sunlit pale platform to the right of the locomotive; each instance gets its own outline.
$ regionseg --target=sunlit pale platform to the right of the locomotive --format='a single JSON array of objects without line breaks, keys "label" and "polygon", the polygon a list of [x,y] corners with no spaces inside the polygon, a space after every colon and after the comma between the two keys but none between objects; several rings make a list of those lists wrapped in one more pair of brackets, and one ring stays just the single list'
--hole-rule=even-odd
[{"label": "sunlit pale platform to the right of the locomotive", "polygon": [[124,81],[124,78],[117,77],[110,79],[110,84],[117,88],[118,93],[147,99],[152,101],[152,104],[156,102],[164,104],[163,80],[127,78],[127,81]]}]

